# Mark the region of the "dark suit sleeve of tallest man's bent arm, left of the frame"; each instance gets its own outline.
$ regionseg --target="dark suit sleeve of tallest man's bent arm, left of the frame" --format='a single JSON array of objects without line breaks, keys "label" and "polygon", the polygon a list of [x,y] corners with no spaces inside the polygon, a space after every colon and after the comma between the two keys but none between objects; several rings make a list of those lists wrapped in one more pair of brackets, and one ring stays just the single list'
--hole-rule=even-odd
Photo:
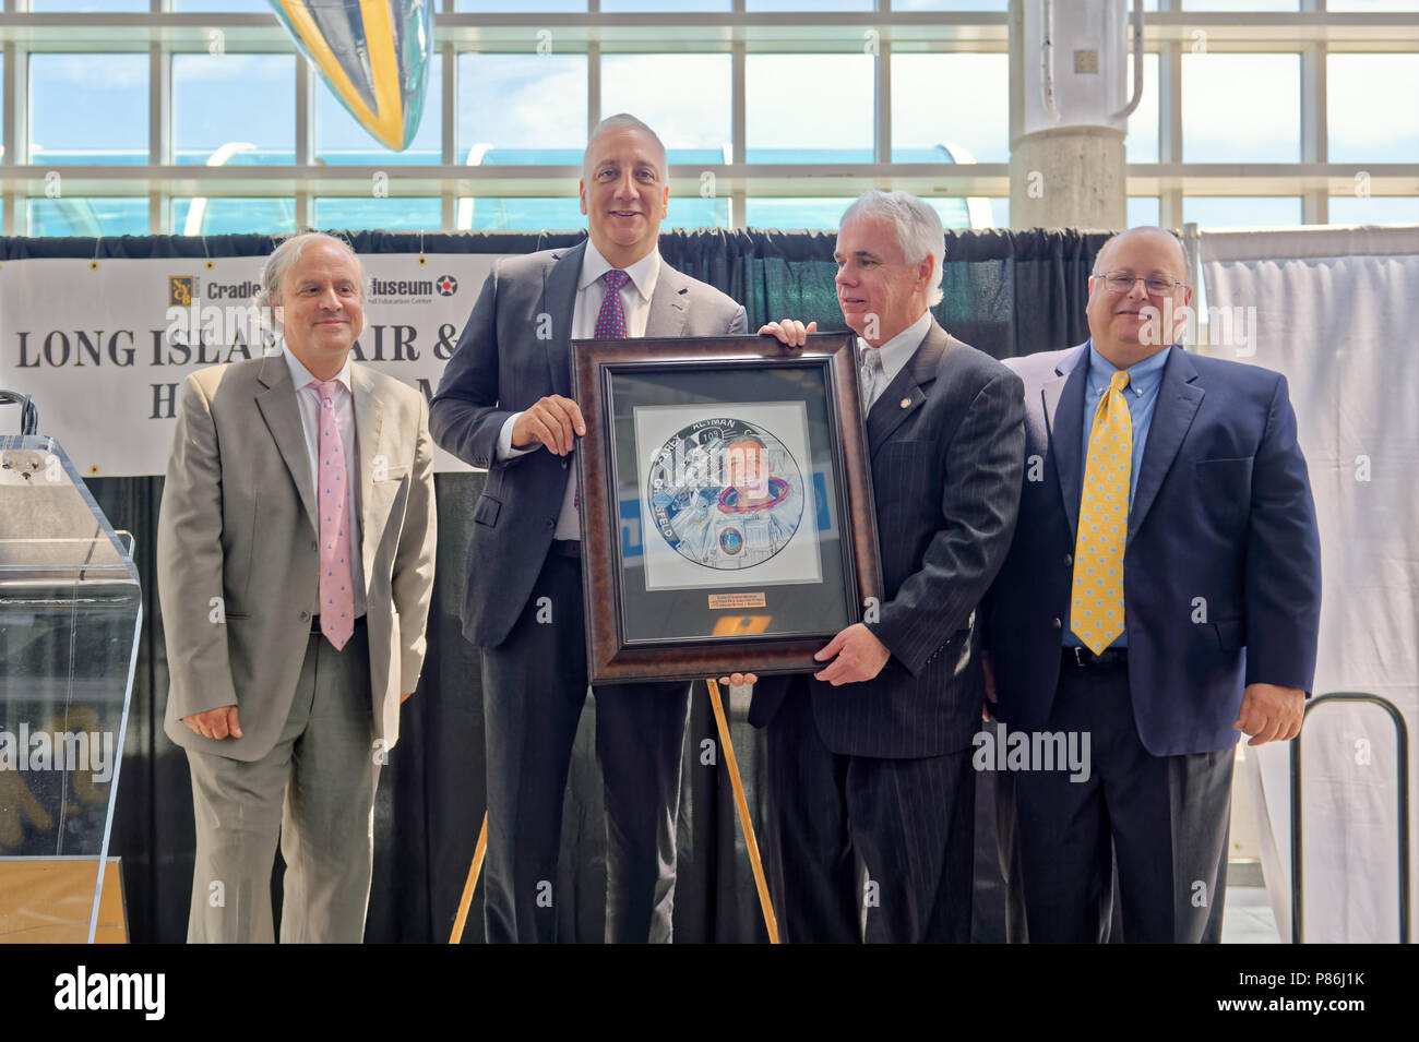
[{"label": "dark suit sleeve of tallest man's bent arm, left of the frame", "polygon": [[[491,466],[498,432],[515,410],[498,408],[498,264],[482,284],[473,315],[444,366],[438,393],[429,403],[434,444],[473,466]],[[532,330],[528,330],[531,336]],[[515,464],[521,456],[507,462]]]}]

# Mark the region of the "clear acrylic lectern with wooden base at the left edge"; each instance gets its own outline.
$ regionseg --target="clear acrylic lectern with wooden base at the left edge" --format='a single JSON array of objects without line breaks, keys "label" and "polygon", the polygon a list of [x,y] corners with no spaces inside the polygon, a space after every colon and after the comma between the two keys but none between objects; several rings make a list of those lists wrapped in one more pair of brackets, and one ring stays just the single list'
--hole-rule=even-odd
[{"label": "clear acrylic lectern with wooden base at the left edge", "polygon": [[140,627],[132,537],[0,437],[0,941],[95,940]]}]

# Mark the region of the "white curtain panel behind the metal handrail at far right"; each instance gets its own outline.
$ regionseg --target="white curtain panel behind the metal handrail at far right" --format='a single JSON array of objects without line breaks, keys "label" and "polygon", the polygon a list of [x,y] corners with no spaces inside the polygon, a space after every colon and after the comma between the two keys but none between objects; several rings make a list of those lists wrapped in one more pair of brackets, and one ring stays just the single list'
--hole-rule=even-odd
[{"label": "white curtain panel behind the metal handrail at far right", "polygon": [[[1368,692],[1419,739],[1419,228],[1203,233],[1216,357],[1286,374],[1321,532],[1315,695]],[[1254,308],[1254,312],[1247,312]],[[1250,325],[1254,318],[1254,326]],[[1247,333],[1237,319],[1246,320]],[[1303,732],[1304,940],[1395,941],[1393,727],[1372,706],[1327,705]],[[1260,753],[1260,756],[1259,756]],[[1290,750],[1247,750],[1261,868],[1291,937]],[[1415,792],[1416,766],[1409,763]],[[1410,798],[1410,846],[1419,839]],[[1419,855],[1410,851],[1410,875]],[[1413,887],[1413,882],[1410,883]],[[1413,927],[1410,926],[1410,940]]]}]

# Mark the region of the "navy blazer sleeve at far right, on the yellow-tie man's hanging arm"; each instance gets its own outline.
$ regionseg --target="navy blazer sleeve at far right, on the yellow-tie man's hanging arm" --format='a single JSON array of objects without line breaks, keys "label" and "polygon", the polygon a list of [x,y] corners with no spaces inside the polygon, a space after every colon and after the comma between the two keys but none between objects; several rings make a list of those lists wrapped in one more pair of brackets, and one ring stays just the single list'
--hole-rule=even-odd
[{"label": "navy blazer sleeve at far right, on the yellow-tie man's hanging arm", "polygon": [[1321,614],[1321,542],[1296,411],[1279,376],[1252,465],[1246,682],[1310,692]]}]

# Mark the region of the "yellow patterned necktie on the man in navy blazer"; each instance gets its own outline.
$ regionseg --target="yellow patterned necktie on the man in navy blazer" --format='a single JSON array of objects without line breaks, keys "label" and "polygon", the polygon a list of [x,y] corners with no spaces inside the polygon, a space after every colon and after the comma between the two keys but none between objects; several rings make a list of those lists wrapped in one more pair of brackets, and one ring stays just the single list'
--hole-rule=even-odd
[{"label": "yellow patterned necktie on the man in navy blazer", "polygon": [[1074,543],[1070,629],[1098,655],[1124,632],[1124,543],[1134,466],[1134,421],[1124,401],[1128,373],[1114,373],[1094,413],[1084,498]]}]

